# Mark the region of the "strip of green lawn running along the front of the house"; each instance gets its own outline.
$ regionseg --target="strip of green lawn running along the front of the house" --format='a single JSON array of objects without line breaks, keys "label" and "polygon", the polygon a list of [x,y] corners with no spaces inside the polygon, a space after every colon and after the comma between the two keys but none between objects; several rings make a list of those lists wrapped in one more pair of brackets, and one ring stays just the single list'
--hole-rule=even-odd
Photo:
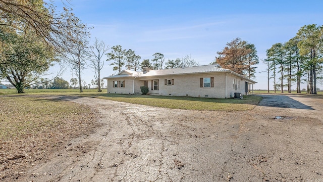
[{"label": "strip of green lawn running along the front of the house", "polygon": [[[15,95],[15,89],[0,90],[0,95]],[[96,89],[84,89],[80,93],[79,89],[25,89],[25,94],[19,95],[67,95],[80,97],[96,97],[118,102],[141,104],[147,106],[190,109],[190,110],[210,110],[210,111],[246,111],[252,110],[261,100],[257,96],[244,96],[244,99],[212,99],[193,98],[175,96],[144,96],[144,95],[120,95],[107,94],[106,89],[98,93]]]}]

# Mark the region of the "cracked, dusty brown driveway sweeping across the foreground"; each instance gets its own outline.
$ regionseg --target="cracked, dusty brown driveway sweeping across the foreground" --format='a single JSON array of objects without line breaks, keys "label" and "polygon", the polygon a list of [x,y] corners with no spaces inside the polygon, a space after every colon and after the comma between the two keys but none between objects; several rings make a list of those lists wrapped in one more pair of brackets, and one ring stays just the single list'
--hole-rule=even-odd
[{"label": "cracked, dusty brown driveway sweeping across the foreground", "polygon": [[248,112],[61,98],[97,107],[104,125],[18,180],[323,181],[323,98],[262,97]]}]

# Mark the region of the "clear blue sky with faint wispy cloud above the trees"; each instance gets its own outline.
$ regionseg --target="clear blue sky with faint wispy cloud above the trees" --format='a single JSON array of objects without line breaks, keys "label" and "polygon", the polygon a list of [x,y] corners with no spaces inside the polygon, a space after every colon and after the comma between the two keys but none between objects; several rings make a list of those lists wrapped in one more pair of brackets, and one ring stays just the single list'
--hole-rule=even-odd
[{"label": "clear blue sky with faint wispy cloud above the trees", "polygon": [[[60,10],[61,1],[54,3]],[[141,61],[159,52],[165,62],[191,55],[206,65],[236,37],[253,43],[263,60],[266,49],[288,41],[300,27],[323,25],[323,1],[74,0],[69,6],[82,23],[93,27],[91,44],[95,37],[110,47],[120,44],[134,50]],[[266,73],[259,73],[264,70],[260,61],[256,89],[266,89]],[[101,75],[113,73],[105,62]],[[90,83],[93,75],[86,68],[82,79]],[[70,78],[66,70],[64,79]]]}]

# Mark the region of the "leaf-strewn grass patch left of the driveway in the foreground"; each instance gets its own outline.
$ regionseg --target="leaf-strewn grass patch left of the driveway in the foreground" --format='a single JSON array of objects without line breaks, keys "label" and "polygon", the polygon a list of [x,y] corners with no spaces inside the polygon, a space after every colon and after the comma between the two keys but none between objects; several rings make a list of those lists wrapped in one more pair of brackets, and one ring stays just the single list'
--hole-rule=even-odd
[{"label": "leaf-strewn grass patch left of the driveway in the foreground", "polygon": [[[5,161],[0,163],[0,180],[15,179],[32,163],[98,125],[95,111],[73,102],[8,95],[0,97],[0,105],[0,161]],[[23,156],[23,161],[6,160],[14,156]]]}]

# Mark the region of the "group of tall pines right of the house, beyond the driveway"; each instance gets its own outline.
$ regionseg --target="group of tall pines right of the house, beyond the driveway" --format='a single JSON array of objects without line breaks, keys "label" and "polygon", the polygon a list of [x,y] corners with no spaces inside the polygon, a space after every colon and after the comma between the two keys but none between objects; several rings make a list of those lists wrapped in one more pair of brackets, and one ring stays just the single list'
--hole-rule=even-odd
[{"label": "group of tall pines right of the house, beyond the driveway", "polygon": [[263,61],[267,72],[268,92],[270,80],[274,82],[274,92],[296,84],[297,93],[301,93],[301,84],[305,83],[307,94],[317,94],[316,82],[321,79],[323,56],[323,27],[315,24],[301,27],[296,36],[284,43],[275,43],[266,50]]}]

